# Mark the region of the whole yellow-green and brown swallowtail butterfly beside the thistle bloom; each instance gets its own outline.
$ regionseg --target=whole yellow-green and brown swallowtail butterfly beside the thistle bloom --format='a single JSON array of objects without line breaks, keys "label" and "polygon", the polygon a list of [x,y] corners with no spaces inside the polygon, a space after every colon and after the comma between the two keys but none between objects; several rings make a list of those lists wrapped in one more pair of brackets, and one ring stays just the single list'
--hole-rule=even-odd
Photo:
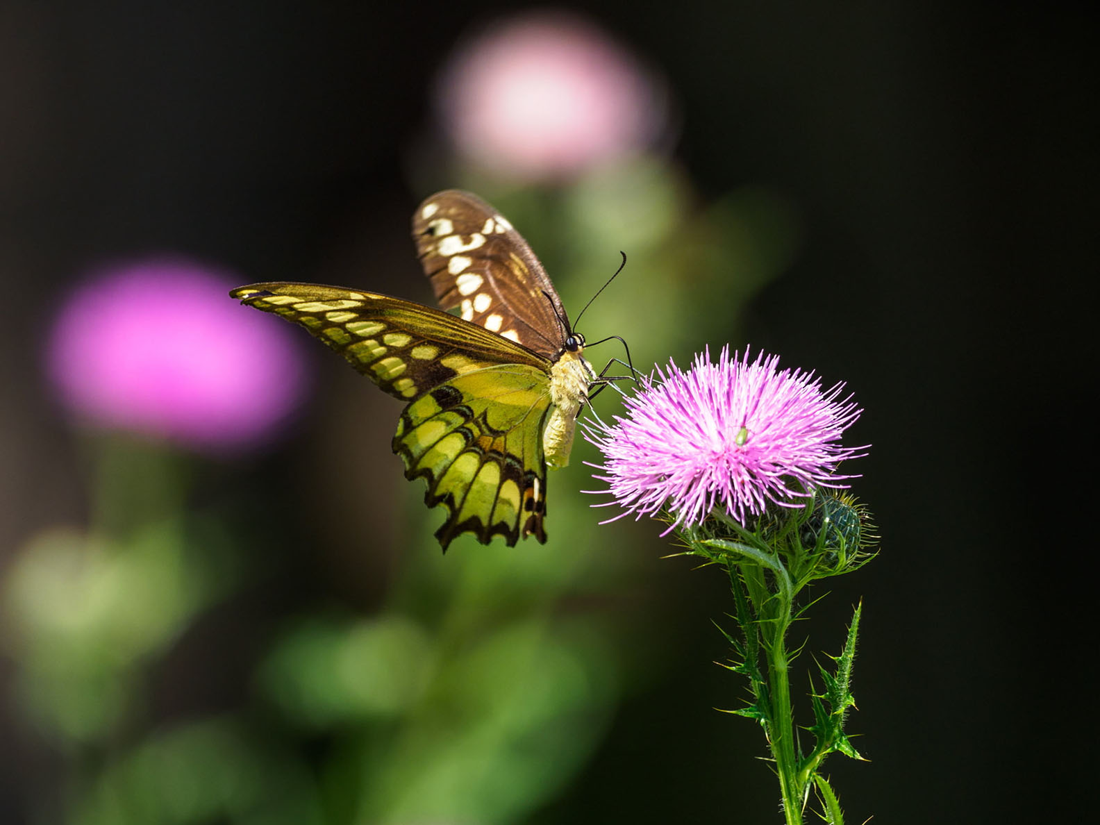
[{"label": "whole yellow-green and brown swallowtail butterfly beside the thistle bloom", "polygon": [[394,436],[405,477],[441,506],[443,551],[464,532],[544,542],[547,466],[569,463],[588,387],[546,270],[493,207],[448,189],[413,216],[413,238],[442,310],[319,284],[252,284],[230,295],[305,327],[384,392],[406,402]]}]

